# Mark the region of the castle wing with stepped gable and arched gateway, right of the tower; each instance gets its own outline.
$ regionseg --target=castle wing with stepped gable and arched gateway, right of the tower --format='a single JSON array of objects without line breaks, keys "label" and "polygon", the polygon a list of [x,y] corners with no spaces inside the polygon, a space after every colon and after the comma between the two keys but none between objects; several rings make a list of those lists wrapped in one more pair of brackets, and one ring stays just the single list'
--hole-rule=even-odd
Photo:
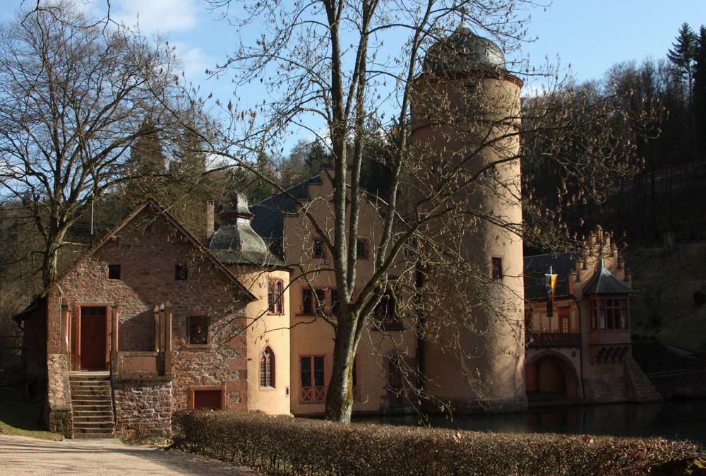
[{"label": "castle wing with stepped gable and arched gateway, right of the tower", "polygon": [[[556,285],[548,304],[551,274]],[[630,352],[630,281],[600,227],[579,251],[525,257],[530,403],[661,400]]]}]

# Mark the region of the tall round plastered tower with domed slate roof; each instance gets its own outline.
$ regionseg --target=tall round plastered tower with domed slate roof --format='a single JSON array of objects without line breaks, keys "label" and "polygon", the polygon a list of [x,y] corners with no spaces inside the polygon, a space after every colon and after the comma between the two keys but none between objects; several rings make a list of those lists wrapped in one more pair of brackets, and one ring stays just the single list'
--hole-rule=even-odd
[{"label": "tall round plastered tower with domed slate roof", "polygon": [[521,87],[498,45],[463,25],[427,50],[414,83],[418,194],[430,212],[451,210],[424,230],[448,271],[424,271],[444,311],[427,307],[419,362],[426,391],[456,412],[527,408]]}]

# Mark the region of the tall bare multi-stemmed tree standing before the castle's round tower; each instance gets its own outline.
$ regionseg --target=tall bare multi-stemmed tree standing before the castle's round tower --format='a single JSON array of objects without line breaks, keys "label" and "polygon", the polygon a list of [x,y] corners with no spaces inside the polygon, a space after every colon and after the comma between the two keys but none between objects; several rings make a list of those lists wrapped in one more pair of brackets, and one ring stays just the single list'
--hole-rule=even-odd
[{"label": "tall bare multi-stemmed tree standing before the castle's round tower", "polygon": [[[353,356],[390,288],[402,296],[397,312],[414,321],[419,337],[453,352],[465,381],[482,392],[479,381],[487,382],[489,376],[477,374],[474,352],[462,349],[458,342],[468,333],[489,333],[491,321],[512,321],[505,329],[513,333],[513,342],[522,342],[521,323],[506,314],[513,308],[513,316],[517,315],[522,270],[513,269],[519,288],[498,290],[501,285],[488,263],[469,256],[465,244],[480,235],[489,237],[493,230],[502,230],[503,239],[513,235],[515,242],[522,237],[545,245],[549,237],[566,232],[551,220],[551,213],[536,207],[527,208],[534,213],[534,221],[531,230],[525,230],[516,213],[503,215],[486,208],[484,196],[498,203],[525,201],[517,165],[520,137],[525,134],[523,141],[537,139],[537,147],[525,148],[536,153],[533,160],[557,160],[566,178],[575,177],[587,194],[597,193],[594,185],[604,183],[620,168],[611,165],[621,157],[612,156],[616,143],[606,129],[613,117],[610,103],[572,90],[540,94],[525,111],[533,119],[525,131],[520,128],[519,96],[511,97],[508,104],[497,92],[486,94],[484,80],[504,78],[507,73],[504,60],[502,67],[483,65],[487,69],[474,83],[456,81],[460,70],[435,70],[435,64],[464,66],[467,45],[462,39],[456,44],[458,37],[454,37],[467,34],[457,30],[462,23],[503,47],[517,46],[525,34],[526,8],[532,1],[241,4],[212,0],[210,4],[234,11],[239,18],[233,21],[241,31],[260,29],[256,40],[241,44],[218,73],[232,68],[237,85],[258,81],[274,97],[256,108],[225,108],[232,123],[220,143],[227,147],[215,152],[255,172],[253,164],[262,157],[263,146],[278,150],[282,138],[294,128],[309,129],[330,145],[334,191],[326,203],[333,225],[318,221],[300,197],[282,192],[297,203],[309,220],[307,226],[321,237],[330,256],[330,273],[335,275],[340,305],[337,315],[329,319],[335,328],[335,348],[326,417],[349,420]],[[493,54],[502,56],[500,50]],[[580,102],[581,110],[565,112],[573,107],[572,101],[558,99],[566,97]],[[586,114],[591,111],[596,114]],[[312,116],[321,122],[309,121]],[[431,124],[440,140],[412,141],[410,131],[421,123]],[[578,135],[587,129],[594,133]],[[390,170],[390,190],[381,208],[383,232],[373,244],[375,270],[361,282],[357,276],[360,210],[365,200],[361,164],[369,143],[379,143],[381,138],[388,145],[385,165]],[[552,148],[539,146],[550,139]],[[453,151],[445,147],[451,142]],[[572,164],[570,155],[576,150],[582,160]],[[590,160],[593,154],[599,160]],[[347,168],[352,171],[349,182]],[[496,174],[496,170],[505,172]],[[558,194],[565,183],[556,184]],[[389,280],[393,271],[397,279]],[[424,383],[433,385],[424,369],[419,374],[413,368],[402,370],[409,375],[410,385],[421,379],[420,390]]]}]

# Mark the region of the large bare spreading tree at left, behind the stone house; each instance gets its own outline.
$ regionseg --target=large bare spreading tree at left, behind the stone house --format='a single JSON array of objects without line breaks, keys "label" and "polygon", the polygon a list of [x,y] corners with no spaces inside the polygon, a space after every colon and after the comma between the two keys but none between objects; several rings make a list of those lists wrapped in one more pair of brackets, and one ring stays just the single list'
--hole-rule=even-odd
[{"label": "large bare spreading tree at left, behind the stone house", "polygon": [[[131,145],[174,122],[172,50],[107,28],[69,2],[40,4],[0,28],[1,194],[42,237],[42,282],[69,227],[131,178]],[[149,117],[155,128],[140,128]]]}]

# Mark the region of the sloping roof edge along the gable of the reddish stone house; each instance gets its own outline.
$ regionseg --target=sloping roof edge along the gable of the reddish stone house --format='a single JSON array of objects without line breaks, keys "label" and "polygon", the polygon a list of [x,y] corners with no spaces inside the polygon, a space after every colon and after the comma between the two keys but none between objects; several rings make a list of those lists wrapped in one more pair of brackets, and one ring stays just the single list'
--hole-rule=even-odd
[{"label": "sloping roof edge along the gable of the reddish stone house", "polygon": [[164,209],[164,207],[162,207],[160,205],[159,202],[157,202],[152,197],[148,198],[140,206],[138,206],[137,208],[132,210],[131,213],[129,213],[121,222],[118,223],[118,225],[116,225],[116,227],[114,227],[112,230],[107,232],[107,234],[105,234],[105,236],[102,237],[99,242],[97,242],[95,245],[91,246],[91,248],[88,251],[86,251],[82,256],[80,256],[80,258],[78,258],[76,261],[74,261],[74,263],[71,266],[68,266],[68,268],[66,268],[64,270],[64,272],[62,272],[59,276],[56,277],[56,279],[54,280],[54,282],[52,282],[51,285],[47,286],[47,288],[44,291],[42,291],[41,295],[44,296],[44,294],[47,292],[47,290],[49,290],[56,282],[60,282],[61,280],[63,280],[66,277],[66,275],[72,273],[73,270],[76,270],[76,268],[78,268],[78,266],[83,264],[88,258],[90,258],[90,256],[95,254],[95,252],[97,250],[99,250],[104,244],[106,244],[106,242],[108,242],[112,237],[114,237],[114,235],[116,233],[118,233],[120,230],[122,230],[124,227],[126,227],[126,225],[128,225],[129,222],[131,222],[136,216],[138,216],[143,210],[145,210],[145,208],[148,208],[148,207],[153,208],[155,210],[155,212],[157,213],[157,215],[162,215],[164,218],[166,218],[167,221],[169,222],[169,224],[172,225],[177,231],[179,231],[181,233],[182,237],[186,238],[187,241],[191,242],[191,244],[193,244],[194,248],[196,250],[198,250],[203,257],[208,259],[208,261],[213,263],[213,265],[217,268],[217,270],[219,270],[221,273],[223,273],[223,275],[225,275],[225,277],[230,282],[232,282],[235,285],[235,287],[237,287],[238,290],[241,293],[243,293],[249,300],[251,300],[251,301],[257,300],[257,298],[249,290],[247,290],[247,288],[244,285],[242,285],[242,283],[238,280],[238,278],[236,278],[235,275],[233,275],[233,273],[231,273],[228,270],[228,268],[223,266],[223,263],[218,261],[218,259],[215,256],[213,256],[213,254],[211,254],[208,251],[208,249],[206,249],[206,247],[203,246],[203,244],[201,244],[201,242],[199,242],[198,239],[196,239],[196,237],[193,236],[193,234],[189,233],[189,231],[186,230],[186,228],[184,228],[184,225],[181,225],[181,223],[179,223],[179,220],[174,218],[169,212],[167,212],[167,210]]}]

